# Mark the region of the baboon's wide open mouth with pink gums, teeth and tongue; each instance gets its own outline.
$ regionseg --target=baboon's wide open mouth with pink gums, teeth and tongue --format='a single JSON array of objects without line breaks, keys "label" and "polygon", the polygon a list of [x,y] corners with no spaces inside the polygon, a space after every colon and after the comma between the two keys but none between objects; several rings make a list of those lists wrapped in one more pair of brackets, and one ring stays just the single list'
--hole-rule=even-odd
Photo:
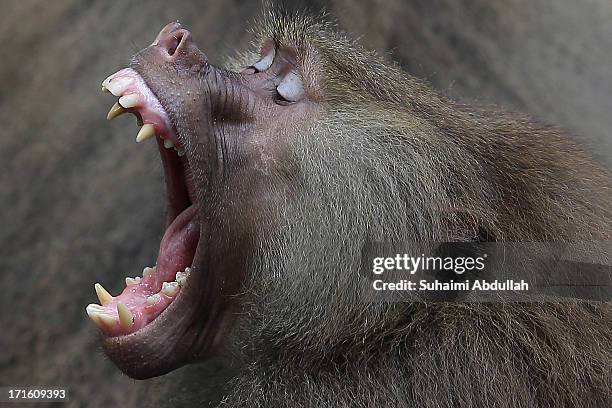
[{"label": "baboon's wide open mouth with pink gums, teeth and tongue", "polygon": [[125,278],[126,287],[117,296],[95,284],[100,304],[86,308],[91,320],[106,336],[117,337],[147,326],[181,296],[192,271],[200,222],[188,154],[157,97],[131,68],[109,76],[102,88],[119,98],[108,119],[132,113],[141,126],[136,141],[157,140],[168,200],[166,231],[156,265],[145,267],[142,276]]}]

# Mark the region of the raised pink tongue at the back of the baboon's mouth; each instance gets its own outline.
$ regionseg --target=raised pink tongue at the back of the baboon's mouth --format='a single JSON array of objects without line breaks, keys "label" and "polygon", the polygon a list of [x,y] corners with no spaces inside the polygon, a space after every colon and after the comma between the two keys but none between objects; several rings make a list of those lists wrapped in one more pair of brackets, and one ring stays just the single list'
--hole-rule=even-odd
[{"label": "raised pink tongue at the back of the baboon's mouth", "polygon": [[172,221],[159,244],[155,285],[173,281],[177,272],[191,265],[200,236],[197,207],[192,205]]}]

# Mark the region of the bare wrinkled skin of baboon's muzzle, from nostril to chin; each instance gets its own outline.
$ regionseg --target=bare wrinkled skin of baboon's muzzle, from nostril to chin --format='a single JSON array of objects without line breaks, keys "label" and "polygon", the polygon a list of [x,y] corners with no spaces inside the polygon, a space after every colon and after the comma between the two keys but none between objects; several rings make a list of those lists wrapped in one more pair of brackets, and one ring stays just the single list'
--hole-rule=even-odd
[{"label": "bare wrinkled skin of baboon's muzzle, from nostril to chin", "polygon": [[240,290],[255,240],[270,232],[271,209],[286,199],[278,189],[295,188],[275,179],[294,171],[283,168],[288,134],[282,118],[299,126],[317,110],[310,102],[278,100],[275,86],[295,59],[293,50],[279,50],[272,66],[257,74],[215,67],[178,23],[133,57],[131,67],[159,98],[186,147],[202,228],[195,277],[172,305],[172,315],[181,318],[166,313],[156,325],[105,339],[107,354],[130,376],[149,378],[224,351],[236,303],[230,298]]}]

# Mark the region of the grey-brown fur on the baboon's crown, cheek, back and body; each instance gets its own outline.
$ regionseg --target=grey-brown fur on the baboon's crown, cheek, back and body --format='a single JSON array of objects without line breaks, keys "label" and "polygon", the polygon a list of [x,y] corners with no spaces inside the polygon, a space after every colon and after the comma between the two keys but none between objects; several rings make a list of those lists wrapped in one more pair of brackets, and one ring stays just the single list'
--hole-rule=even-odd
[{"label": "grey-brown fur on the baboon's crown, cheek, back and body", "polygon": [[293,136],[299,193],[259,237],[225,403],[610,405],[609,304],[372,304],[358,274],[369,240],[609,240],[610,174],[557,129],[458,106],[328,24],[259,26],[302,61],[314,44],[327,104]]}]

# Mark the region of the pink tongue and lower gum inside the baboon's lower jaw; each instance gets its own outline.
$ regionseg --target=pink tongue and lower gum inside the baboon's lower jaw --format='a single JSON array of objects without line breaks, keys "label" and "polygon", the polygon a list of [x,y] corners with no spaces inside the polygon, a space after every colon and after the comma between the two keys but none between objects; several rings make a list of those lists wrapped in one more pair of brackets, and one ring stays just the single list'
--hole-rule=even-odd
[{"label": "pink tongue and lower gum inside the baboon's lower jaw", "polygon": [[[176,273],[184,271],[193,262],[200,236],[197,211],[194,205],[188,207],[168,226],[159,246],[155,272],[141,278],[138,283],[126,286],[120,295],[102,306],[103,314],[114,317],[114,320],[107,321],[102,328],[107,335],[128,334],[146,326],[180,294],[180,290],[170,295],[165,294],[162,283],[173,282]],[[154,294],[159,297],[148,304],[147,298]],[[119,302],[132,314],[132,325],[129,328],[122,327],[117,318]]]}]

